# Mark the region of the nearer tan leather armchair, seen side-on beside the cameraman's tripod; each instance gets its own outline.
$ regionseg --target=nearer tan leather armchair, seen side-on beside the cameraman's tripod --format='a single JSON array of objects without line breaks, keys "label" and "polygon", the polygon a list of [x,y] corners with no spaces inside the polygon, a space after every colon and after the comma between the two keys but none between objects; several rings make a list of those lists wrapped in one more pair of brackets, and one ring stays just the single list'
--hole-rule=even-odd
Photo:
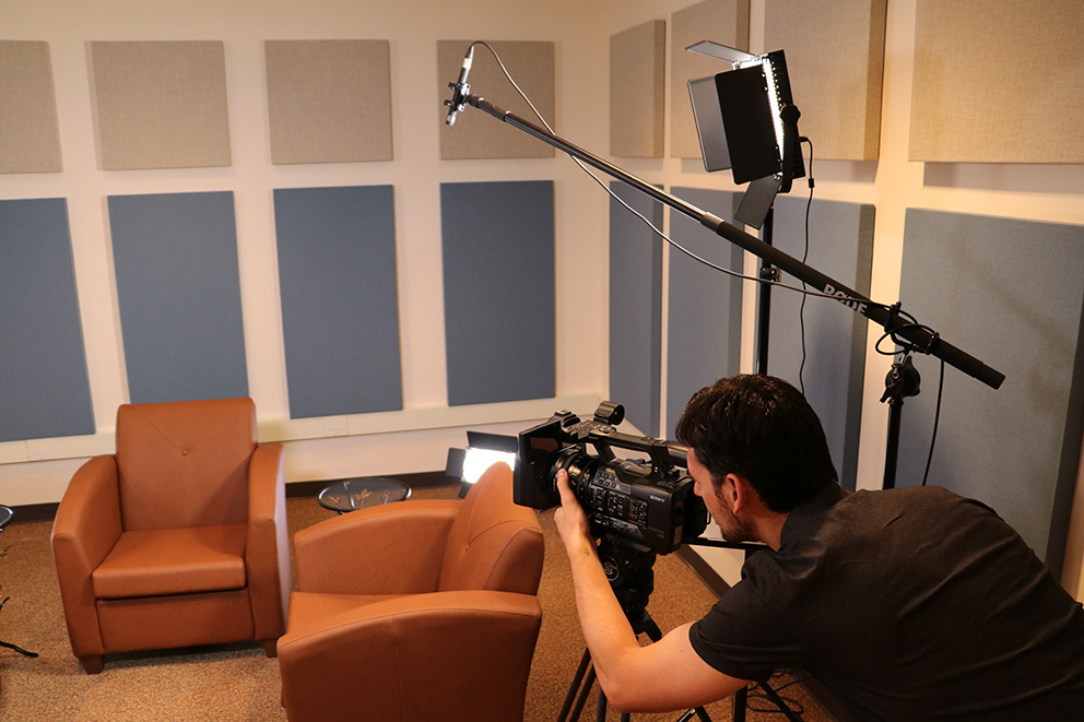
[{"label": "nearer tan leather armchair, seen side-on beside the cameraman's tripod", "polygon": [[460,500],[352,511],[294,535],[279,640],[294,722],[521,720],[543,542],[492,466]]}]

